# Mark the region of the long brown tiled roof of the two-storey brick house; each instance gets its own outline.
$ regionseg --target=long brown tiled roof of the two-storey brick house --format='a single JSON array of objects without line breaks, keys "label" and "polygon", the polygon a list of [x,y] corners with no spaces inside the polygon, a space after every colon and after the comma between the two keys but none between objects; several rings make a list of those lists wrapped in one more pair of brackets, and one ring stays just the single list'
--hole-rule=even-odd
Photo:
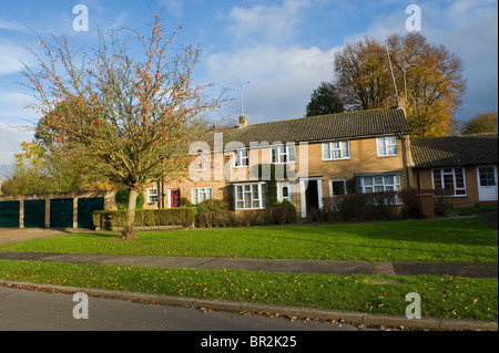
[{"label": "long brown tiled roof of the two-storey brick house", "polygon": [[[241,142],[249,146],[252,142],[314,142],[408,134],[410,129],[403,110],[383,108],[230,127],[220,132],[223,133],[224,144]],[[213,144],[213,134],[208,134],[206,142]]]}]

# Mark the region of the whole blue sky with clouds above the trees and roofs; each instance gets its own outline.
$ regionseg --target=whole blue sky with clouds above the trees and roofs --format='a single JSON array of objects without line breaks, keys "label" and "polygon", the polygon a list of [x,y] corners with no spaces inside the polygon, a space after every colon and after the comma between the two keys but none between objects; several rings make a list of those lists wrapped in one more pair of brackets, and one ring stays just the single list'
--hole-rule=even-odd
[{"label": "whole blue sky with clouds above the trees and roofs", "polygon": [[[77,32],[73,7],[89,10],[89,31]],[[200,44],[197,83],[228,87],[236,100],[220,111],[226,120],[244,113],[252,123],[302,117],[314,89],[334,79],[334,54],[364,35],[384,40],[405,34],[406,8],[421,9],[421,34],[442,44],[465,63],[468,82],[461,111],[467,121],[498,110],[498,2],[496,0],[0,0],[0,165],[13,160],[20,143],[32,138],[39,116],[20,83],[20,61],[34,64],[23,45],[35,48],[42,34],[64,34],[74,46],[95,48],[96,24],[131,27],[149,33],[153,13],[166,31],[179,24],[183,44]],[[244,84],[243,84],[244,83]]]}]

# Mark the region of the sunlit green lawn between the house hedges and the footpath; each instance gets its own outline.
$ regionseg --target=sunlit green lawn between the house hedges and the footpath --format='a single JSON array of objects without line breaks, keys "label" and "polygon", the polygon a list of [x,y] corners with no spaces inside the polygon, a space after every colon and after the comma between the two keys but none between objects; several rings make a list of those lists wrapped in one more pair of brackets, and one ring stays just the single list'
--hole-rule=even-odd
[{"label": "sunlit green lawn between the house hedges and the footpath", "polygon": [[0,251],[367,261],[497,261],[498,233],[473,219],[69,233]]}]

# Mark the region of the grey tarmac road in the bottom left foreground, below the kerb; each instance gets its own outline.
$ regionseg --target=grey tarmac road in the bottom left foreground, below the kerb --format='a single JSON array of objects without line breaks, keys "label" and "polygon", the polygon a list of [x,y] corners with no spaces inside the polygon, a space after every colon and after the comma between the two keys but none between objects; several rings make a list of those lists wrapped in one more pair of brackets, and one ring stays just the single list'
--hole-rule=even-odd
[{"label": "grey tarmac road in the bottom left foreground, below the kerb", "polygon": [[0,331],[357,331],[350,324],[224,311],[142,304],[88,297],[88,319],[74,319],[83,301],[72,294],[0,287]]}]

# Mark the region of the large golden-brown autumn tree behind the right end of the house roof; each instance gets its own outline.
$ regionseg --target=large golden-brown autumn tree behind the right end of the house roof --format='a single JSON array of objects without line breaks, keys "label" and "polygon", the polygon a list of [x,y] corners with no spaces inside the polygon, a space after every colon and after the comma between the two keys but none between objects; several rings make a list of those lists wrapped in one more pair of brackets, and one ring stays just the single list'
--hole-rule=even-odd
[{"label": "large golden-brown autumn tree behind the right end of the house roof", "polygon": [[397,93],[404,93],[414,137],[450,133],[466,89],[462,71],[456,54],[419,33],[391,35],[385,43],[366,38],[335,56],[336,86],[347,107],[395,106]]}]

